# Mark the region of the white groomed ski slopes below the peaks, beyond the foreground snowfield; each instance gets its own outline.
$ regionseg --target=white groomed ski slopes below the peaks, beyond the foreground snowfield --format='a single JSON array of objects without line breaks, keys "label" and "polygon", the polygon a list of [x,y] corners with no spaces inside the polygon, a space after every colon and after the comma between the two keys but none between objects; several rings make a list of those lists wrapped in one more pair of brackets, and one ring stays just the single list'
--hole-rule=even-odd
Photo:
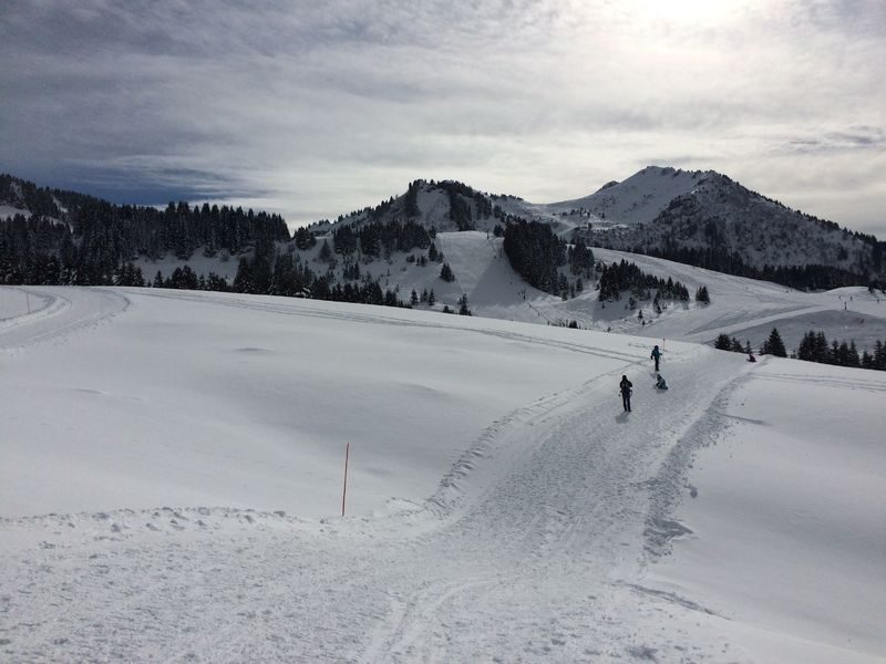
[{"label": "white groomed ski slopes below the peaks, beyond the foreground snowfield", "polygon": [[[569,300],[550,295],[526,284],[501,251],[502,240],[481,232],[440,234],[456,281],[449,291],[451,307],[461,293],[468,297],[476,315],[567,324],[646,336],[650,340],[681,340],[713,345],[719,334],[750,341],[754,349],[777,328],[786,347],[795,350],[810,330],[822,330],[828,341],[854,339],[858,352],[873,352],[877,340],[886,339],[886,295],[863,287],[807,293],[777,283],[723,274],[670,260],[594,249],[596,260],[607,263],[627,260],[643,272],[681,281],[691,294],[705,286],[710,304],[672,302],[656,314],[651,301],[629,309],[627,294],[618,302],[599,302],[597,291],[586,290]],[[441,282],[442,283],[442,282]],[[409,288],[406,283],[401,288]],[[445,301],[445,300],[444,300]],[[638,311],[643,311],[643,319]],[[655,342],[653,342],[655,343]]]}]

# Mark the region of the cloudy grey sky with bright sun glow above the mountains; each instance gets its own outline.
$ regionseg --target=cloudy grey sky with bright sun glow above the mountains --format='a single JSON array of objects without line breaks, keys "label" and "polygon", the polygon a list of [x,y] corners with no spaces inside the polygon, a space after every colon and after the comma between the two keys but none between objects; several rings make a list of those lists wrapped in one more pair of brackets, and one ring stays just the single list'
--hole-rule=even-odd
[{"label": "cloudy grey sky with bright sun glow above the mountains", "polygon": [[0,170],[290,224],[712,168],[886,239],[886,0],[2,0]]}]

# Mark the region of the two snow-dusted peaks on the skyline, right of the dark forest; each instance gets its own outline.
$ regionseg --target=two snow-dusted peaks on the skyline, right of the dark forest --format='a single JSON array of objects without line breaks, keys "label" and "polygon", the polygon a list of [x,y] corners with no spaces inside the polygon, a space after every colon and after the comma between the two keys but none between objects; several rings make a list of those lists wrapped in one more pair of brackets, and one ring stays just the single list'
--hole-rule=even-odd
[{"label": "two snow-dusted peaks on the skyline, right of the dark forest", "polygon": [[816,266],[854,274],[856,282],[886,273],[886,243],[790,209],[713,170],[649,166],[584,198],[553,204],[418,180],[406,194],[339,224],[414,219],[439,230],[485,231],[506,216],[546,222],[568,240],[733,273],[772,278],[779,268]]}]

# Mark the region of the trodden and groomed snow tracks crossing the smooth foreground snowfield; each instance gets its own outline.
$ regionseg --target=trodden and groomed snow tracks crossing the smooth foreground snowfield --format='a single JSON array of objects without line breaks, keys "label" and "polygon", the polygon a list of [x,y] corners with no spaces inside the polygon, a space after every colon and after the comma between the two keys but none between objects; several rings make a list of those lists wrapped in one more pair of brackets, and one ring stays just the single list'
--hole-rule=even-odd
[{"label": "trodden and groomed snow tracks crossing the smooth foreground snowfield", "polygon": [[[86,292],[56,307],[52,324],[34,323],[30,340],[0,332],[0,343],[63,340],[130,305],[116,291]],[[165,662],[722,656],[693,645],[715,630],[707,622],[693,634],[661,627],[687,613],[711,620],[715,608],[647,588],[642,577],[687,531],[672,513],[691,453],[723,426],[717,412],[750,367],[709,349],[672,353],[663,364],[672,388],[660,393],[636,356],[556,345],[625,365],[493,423],[421,506],[320,522],[223,507],[0,520],[0,542],[18,547],[0,558],[0,653]],[[620,412],[621,373],[635,383],[631,414]]]}]

